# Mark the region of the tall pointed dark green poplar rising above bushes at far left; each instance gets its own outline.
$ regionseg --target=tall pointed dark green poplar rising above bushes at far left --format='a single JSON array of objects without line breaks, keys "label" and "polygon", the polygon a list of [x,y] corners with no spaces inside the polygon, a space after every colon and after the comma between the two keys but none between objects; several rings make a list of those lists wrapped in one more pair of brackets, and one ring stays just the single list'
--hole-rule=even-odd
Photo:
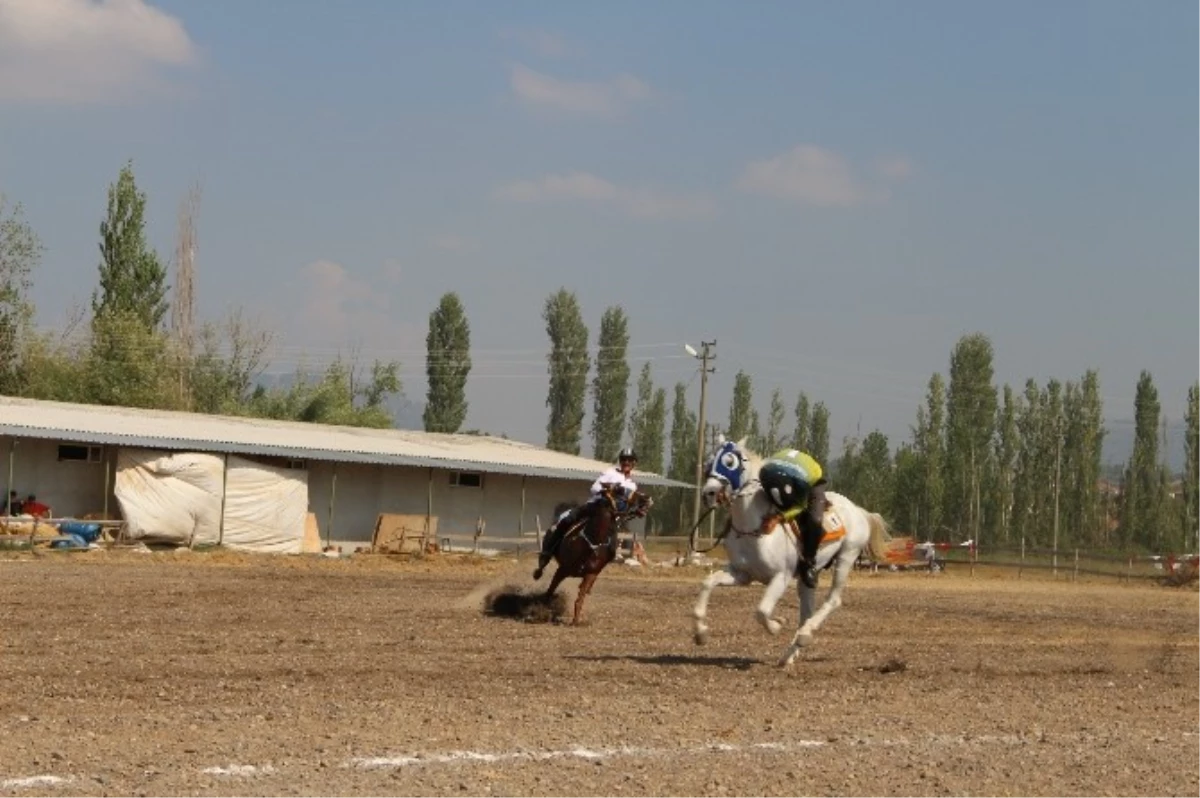
[{"label": "tall pointed dark green poplar rising above bushes at far left", "polygon": [[[126,163],[108,187],[108,215],[100,224],[100,288],[92,313],[120,313],[156,330],[167,313],[167,269],[145,236],[146,197]],[[126,324],[121,322],[119,324]]]}]

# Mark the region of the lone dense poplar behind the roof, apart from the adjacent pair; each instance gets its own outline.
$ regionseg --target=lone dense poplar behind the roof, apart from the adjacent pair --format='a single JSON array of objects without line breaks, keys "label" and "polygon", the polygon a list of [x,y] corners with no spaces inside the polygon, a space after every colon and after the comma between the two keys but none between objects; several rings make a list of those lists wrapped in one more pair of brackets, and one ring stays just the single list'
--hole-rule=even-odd
[{"label": "lone dense poplar behind the roof, apart from the adjacent pair", "polygon": [[426,432],[458,432],[467,420],[467,376],[470,373],[470,324],[458,294],[442,295],[430,313],[425,336]]}]

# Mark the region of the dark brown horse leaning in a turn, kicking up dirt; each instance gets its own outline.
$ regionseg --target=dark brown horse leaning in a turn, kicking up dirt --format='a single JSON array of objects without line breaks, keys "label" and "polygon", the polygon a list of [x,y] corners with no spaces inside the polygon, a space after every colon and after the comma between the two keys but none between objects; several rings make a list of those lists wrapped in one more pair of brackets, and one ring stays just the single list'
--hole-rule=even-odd
[{"label": "dark brown horse leaning in a turn, kicking up dirt", "polygon": [[583,617],[583,600],[592,592],[596,577],[605,565],[612,562],[616,552],[616,538],[620,528],[634,516],[646,515],[649,509],[649,497],[635,493],[625,499],[625,506],[619,508],[618,497],[606,490],[595,503],[588,517],[563,535],[562,542],[554,548],[554,562],[558,570],[550,580],[546,590],[548,601],[558,586],[565,578],[578,578],[580,592],[575,598],[575,616],[572,624],[578,624]]}]

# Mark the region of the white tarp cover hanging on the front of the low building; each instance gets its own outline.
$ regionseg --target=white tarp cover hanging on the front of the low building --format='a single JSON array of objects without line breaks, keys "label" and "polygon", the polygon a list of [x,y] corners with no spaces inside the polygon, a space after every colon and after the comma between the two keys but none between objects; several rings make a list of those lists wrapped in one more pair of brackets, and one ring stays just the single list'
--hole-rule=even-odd
[{"label": "white tarp cover hanging on the front of the low building", "polygon": [[122,449],[116,500],[133,539],[178,545],[222,544],[256,552],[299,553],[308,511],[306,470],[229,456]]}]

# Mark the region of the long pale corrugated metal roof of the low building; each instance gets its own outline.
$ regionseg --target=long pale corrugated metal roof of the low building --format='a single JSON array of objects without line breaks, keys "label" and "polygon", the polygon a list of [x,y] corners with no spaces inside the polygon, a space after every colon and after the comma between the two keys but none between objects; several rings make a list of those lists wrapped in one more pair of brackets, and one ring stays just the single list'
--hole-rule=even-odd
[{"label": "long pale corrugated metal roof of the low building", "polygon": [[[271,455],[592,480],[608,463],[490,436],[371,430],[175,410],[0,397],[0,434],[90,444]],[[641,485],[694,487],[635,472]]]}]

